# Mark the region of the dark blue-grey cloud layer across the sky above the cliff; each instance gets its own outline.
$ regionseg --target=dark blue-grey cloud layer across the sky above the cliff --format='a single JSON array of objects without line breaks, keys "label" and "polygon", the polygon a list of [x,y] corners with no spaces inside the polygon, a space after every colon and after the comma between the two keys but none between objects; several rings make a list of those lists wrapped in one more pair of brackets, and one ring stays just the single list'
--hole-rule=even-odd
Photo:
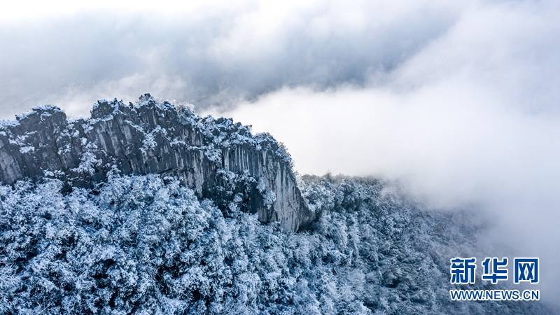
[{"label": "dark blue-grey cloud layer across the sky above the cliff", "polygon": [[282,1],[172,14],[142,4],[108,11],[69,3],[72,14],[0,20],[2,118],[45,103],[83,116],[92,100],[144,92],[204,109],[282,87],[364,86],[442,36],[463,7]]}]

